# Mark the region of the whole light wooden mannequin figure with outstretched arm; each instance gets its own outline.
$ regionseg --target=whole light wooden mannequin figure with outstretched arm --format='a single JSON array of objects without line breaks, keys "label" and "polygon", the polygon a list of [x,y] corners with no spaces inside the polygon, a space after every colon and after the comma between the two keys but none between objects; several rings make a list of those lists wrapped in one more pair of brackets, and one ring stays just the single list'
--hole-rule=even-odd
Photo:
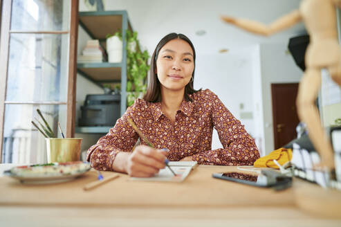
[{"label": "whole light wooden mannequin figure with outstretched arm", "polygon": [[234,26],[266,36],[304,21],[310,44],[306,49],[306,71],[299,82],[297,114],[306,123],[311,142],[322,158],[322,166],[329,169],[334,168],[333,149],[322,127],[315,99],[321,87],[321,69],[327,69],[333,81],[341,86],[341,48],[338,44],[335,7],[341,8],[341,0],[302,0],[298,10],[284,15],[269,26],[248,19],[221,17]]}]

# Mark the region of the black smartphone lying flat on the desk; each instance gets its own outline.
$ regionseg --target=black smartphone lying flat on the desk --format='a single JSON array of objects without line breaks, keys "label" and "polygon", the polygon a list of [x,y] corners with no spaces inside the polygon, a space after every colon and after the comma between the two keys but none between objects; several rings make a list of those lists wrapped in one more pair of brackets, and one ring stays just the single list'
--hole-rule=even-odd
[{"label": "black smartphone lying flat on the desk", "polygon": [[291,186],[291,177],[283,176],[273,170],[262,170],[261,174],[221,172],[214,173],[212,176],[225,181],[233,181],[261,188],[274,188],[275,190],[282,190]]}]

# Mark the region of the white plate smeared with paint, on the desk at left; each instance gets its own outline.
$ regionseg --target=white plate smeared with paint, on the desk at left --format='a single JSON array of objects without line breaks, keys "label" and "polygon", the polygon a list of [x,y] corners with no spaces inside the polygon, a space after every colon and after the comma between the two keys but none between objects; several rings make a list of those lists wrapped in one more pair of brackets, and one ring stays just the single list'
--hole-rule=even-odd
[{"label": "white plate smeared with paint, on the desk at left", "polygon": [[[46,184],[71,181],[91,169],[90,163],[52,163],[50,165],[24,165],[3,172],[21,183]],[[64,172],[63,172],[64,171]]]}]

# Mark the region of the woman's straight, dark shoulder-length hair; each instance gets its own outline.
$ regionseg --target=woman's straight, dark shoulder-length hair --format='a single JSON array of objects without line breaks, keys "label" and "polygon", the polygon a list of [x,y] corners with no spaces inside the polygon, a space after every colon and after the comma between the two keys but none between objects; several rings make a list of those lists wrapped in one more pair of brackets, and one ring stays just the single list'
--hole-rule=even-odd
[{"label": "woman's straight, dark shoulder-length hair", "polygon": [[[185,42],[190,44],[192,51],[193,51],[193,62],[194,62],[194,69],[192,73],[192,78],[190,82],[185,86],[185,93],[183,95],[183,98],[188,102],[192,102],[192,99],[190,98],[190,94],[196,93],[197,91],[193,88],[193,82],[194,82],[194,71],[195,71],[195,50],[192,42],[190,39],[188,39],[187,36],[183,34],[176,34],[176,33],[170,33],[163,37],[163,39],[158,42],[158,45],[155,48],[155,51],[153,55],[151,56],[151,63],[150,63],[150,75],[149,75],[149,83],[147,87],[147,92],[145,96],[143,96],[143,99],[148,102],[160,102],[161,101],[161,87],[160,87],[160,81],[158,80],[158,76],[156,75],[156,60],[158,59],[158,52],[160,51],[167,42],[171,41],[172,39],[183,39]],[[201,89],[200,89],[201,90]],[[200,91],[199,90],[199,91]]]}]

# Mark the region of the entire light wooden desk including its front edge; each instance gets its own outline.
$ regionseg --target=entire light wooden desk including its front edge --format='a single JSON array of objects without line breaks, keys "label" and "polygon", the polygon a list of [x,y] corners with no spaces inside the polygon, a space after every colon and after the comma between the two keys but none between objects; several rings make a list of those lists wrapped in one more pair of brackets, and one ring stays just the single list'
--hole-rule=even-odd
[{"label": "entire light wooden desk including its front edge", "polygon": [[275,192],[212,178],[233,170],[201,165],[183,183],[130,181],[120,174],[91,191],[82,188],[96,180],[93,171],[54,185],[1,177],[0,226],[340,226],[341,219],[299,210],[293,188]]}]

